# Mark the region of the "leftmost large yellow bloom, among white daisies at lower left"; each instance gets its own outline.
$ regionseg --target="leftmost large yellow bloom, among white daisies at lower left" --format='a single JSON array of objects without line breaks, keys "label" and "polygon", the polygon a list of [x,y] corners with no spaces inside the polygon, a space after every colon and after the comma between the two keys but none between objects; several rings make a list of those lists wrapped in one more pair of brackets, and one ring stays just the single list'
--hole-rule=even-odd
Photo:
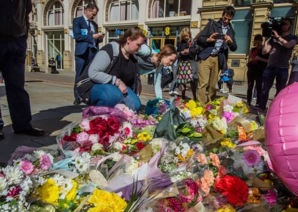
[{"label": "leftmost large yellow bloom, among white daisies at lower left", "polygon": [[47,203],[57,205],[60,190],[53,179],[48,179],[47,182],[37,188],[39,193],[37,197]]}]

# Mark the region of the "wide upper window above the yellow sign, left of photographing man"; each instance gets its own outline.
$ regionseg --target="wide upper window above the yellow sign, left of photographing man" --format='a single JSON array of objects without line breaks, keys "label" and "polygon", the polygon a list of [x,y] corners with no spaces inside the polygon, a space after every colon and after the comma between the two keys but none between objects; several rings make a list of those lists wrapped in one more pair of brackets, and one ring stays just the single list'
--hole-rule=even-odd
[{"label": "wide upper window above the yellow sign, left of photographing man", "polygon": [[151,18],[190,15],[191,0],[154,0]]}]

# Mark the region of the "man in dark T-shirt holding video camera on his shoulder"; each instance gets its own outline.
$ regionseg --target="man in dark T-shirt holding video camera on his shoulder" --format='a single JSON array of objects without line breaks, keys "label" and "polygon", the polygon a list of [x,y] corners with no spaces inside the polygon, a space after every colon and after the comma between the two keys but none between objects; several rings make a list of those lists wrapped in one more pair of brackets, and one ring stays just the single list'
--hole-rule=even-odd
[{"label": "man in dark T-shirt holding video camera on his shoulder", "polygon": [[[288,17],[281,18],[280,25],[280,30],[273,27],[271,37],[265,41],[263,46],[263,55],[269,53],[270,56],[268,65],[263,72],[264,87],[260,96],[260,112],[266,109],[269,91],[274,79],[276,79],[275,95],[286,87],[289,75],[289,60],[292,50],[297,44],[297,36],[290,34],[292,19]],[[277,32],[277,30],[280,32]]]}]

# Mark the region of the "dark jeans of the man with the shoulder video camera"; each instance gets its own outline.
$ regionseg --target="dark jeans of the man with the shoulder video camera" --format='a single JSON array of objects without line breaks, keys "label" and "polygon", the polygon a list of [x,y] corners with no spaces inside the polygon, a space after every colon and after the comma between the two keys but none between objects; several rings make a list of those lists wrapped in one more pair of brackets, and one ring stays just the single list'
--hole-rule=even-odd
[{"label": "dark jeans of the man with the shoulder video camera", "polygon": [[266,108],[266,104],[269,97],[269,91],[274,83],[274,79],[276,79],[276,94],[275,96],[286,87],[286,83],[288,80],[289,69],[281,69],[275,67],[267,67],[263,72],[263,89],[262,94],[260,96],[260,104],[259,107],[261,109]]}]

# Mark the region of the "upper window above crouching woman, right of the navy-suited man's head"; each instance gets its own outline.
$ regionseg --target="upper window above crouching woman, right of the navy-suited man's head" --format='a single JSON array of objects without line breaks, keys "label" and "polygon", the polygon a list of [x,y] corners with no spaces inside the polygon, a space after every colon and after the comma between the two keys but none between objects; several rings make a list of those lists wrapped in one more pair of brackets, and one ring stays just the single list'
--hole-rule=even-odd
[{"label": "upper window above crouching woman, right of the navy-suited man's head", "polygon": [[110,21],[137,20],[139,18],[138,0],[112,0]]}]

